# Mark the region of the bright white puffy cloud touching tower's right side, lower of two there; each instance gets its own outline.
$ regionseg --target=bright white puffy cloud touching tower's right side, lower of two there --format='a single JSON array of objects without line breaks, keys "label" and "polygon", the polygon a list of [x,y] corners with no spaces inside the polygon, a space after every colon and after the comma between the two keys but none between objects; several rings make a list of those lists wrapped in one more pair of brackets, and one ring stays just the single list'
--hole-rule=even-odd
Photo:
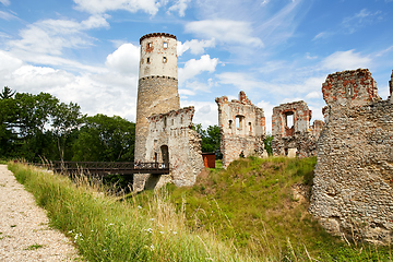
[{"label": "bright white puffy cloud touching tower's right side, lower of two there", "polygon": [[179,85],[181,86],[184,81],[204,71],[214,72],[217,63],[218,58],[210,58],[209,55],[202,56],[200,60],[191,59],[187,61],[184,67],[179,69]]}]

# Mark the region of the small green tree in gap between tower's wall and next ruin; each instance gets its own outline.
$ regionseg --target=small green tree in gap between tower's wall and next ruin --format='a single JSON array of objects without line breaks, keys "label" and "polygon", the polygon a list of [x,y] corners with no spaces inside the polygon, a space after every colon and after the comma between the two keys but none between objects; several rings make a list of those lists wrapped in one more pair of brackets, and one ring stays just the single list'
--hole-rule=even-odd
[{"label": "small green tree in gap between tower's wall and next ruin", "polygon": [[202,152],[203,153],[215,153],[216,158],[223,158],[221,153],[221,133],[217,124],[209,126],[206,130],[202,129],[202,124],[198,123],[194,126],[194,130],[201,135],[202,139]]}]

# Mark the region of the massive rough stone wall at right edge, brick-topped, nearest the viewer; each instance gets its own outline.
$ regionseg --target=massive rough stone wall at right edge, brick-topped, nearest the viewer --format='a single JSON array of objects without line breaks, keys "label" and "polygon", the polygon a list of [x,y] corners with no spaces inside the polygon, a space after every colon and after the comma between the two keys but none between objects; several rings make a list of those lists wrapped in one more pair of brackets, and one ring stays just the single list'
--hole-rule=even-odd
[{"label": "massive rough stone wall at right edge, brick-topped, nearest the viewer", "polygon": [[[393,236],[393,105],[367,69],[330,74],[310,212],[334,235]],[[354,235],[353,235],[354,234]]]}]

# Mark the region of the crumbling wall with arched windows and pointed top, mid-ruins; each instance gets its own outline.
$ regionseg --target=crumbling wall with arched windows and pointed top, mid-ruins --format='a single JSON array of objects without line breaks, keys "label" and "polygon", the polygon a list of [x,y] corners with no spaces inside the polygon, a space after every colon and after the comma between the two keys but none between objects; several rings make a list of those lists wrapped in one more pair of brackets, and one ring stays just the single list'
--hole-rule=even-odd
[{"label": "crumbling wall with arched windows and pointed top, mid-ruins", "polygon": [[218,105],[223,167],[240,155],[262,157],[265,154],[263,140],[266,136],[263,109],[254,106],[242,91],[238,100],[229,102],[228,97],[222,96],[215,102]]}]

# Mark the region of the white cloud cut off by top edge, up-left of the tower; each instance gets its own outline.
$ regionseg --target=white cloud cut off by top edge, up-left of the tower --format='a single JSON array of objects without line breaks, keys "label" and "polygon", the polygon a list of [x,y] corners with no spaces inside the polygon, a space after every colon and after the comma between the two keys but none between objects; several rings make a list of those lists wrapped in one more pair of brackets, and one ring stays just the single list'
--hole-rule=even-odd
[{"label": "white cloud cut off by top edge, up-left of the tower", "polygon": [[143,11],[156,14],[160,7],[155,0],[73,0],[76,9],[87,13],[105,13],[107,11],[124,10],[131,13]]}]

